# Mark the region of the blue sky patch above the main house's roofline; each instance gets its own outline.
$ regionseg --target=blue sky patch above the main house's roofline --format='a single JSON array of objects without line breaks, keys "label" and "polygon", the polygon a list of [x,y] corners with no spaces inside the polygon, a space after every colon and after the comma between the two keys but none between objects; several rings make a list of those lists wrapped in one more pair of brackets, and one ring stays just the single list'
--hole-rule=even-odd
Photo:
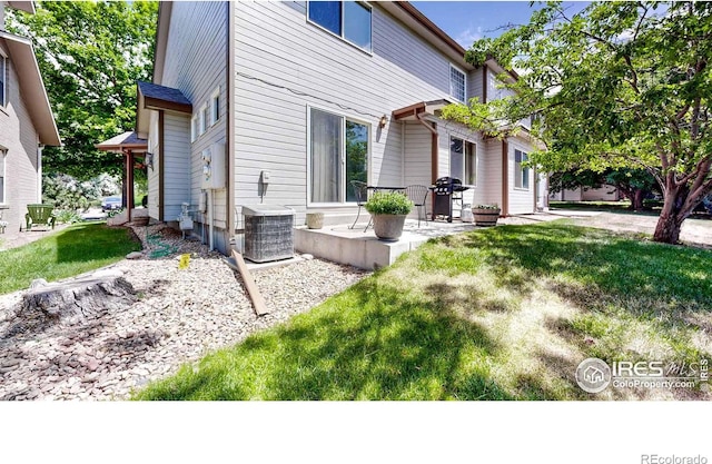
[{"label": "blue sky patch above the main house's roofline", "polygon": [[[525,24],[532,11],[528,1],[414,1],[415,8],[447,32],[464,48],[483,37],[497,37],[506,23]],[[572,11],[580,11],[589,2],[565,2]]]}]

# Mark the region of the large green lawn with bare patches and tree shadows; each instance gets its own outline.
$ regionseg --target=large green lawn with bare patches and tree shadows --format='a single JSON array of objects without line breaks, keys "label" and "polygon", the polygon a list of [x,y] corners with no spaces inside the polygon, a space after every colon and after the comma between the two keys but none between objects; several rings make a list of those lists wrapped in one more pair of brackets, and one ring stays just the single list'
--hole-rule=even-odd
[{"label": "large green lawn with bare patches and tree shadows", "polygon": [[671,397],[589,395],[574,372],[591,356],[711,357],[711,260],[562,223],[445,237],[135,398]]}]

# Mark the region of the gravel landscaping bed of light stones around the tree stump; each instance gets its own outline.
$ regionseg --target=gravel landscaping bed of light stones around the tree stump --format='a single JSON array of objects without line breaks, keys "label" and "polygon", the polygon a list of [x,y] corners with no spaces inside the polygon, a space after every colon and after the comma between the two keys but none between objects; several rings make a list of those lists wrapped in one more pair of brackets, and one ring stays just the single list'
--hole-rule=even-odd
[{"label": "gravel landscaping bed of light stones around the tree stump", "polygon": [[[222,255],[165,225],[132,228],[144,256],[110,266],[136,289],[132,305],[68,324],[19,317],[27,290],[0,296],[0,399],[126,399],[182,363],[306,312],[368,275],[320,259],[254,270],[270,309],[258,318]],[[180,254],[190,254],[186,269],[178,267]]]}]

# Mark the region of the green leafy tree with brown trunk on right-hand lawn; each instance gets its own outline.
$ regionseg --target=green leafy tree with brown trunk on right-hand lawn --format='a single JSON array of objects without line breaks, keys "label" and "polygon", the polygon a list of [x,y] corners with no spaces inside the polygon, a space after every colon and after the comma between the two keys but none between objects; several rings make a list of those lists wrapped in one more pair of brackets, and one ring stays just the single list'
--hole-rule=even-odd
[{"label": "green leafy tree with brown trunk on right-hand lawn", "polygon": [[646,170],[664,196],[654,240],[675,244],[712,190],[711,52],[712,2],[592,2],[576,14],[546,3],[466,53],[521,70],[502,83],[514,96],[444,116],[504,137],[536,115],[547,150],[530,159],[550,171]]}]

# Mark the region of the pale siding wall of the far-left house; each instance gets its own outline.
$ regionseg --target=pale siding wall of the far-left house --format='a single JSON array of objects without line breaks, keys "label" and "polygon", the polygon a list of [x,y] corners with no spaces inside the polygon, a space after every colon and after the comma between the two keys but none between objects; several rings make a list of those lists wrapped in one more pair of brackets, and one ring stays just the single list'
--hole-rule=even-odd
[{"label": "pale siding wall of the far-left house", "polygon": [[21,88],[8,49],[0,40],[0,53],[8,57],[6,106],[0,106],[0,147],[7,150],[4,203],[0,205],[2,220],[9,223],[6,234],[24,228],[27,205],[39,203],[37,130],[20,93]]}]

